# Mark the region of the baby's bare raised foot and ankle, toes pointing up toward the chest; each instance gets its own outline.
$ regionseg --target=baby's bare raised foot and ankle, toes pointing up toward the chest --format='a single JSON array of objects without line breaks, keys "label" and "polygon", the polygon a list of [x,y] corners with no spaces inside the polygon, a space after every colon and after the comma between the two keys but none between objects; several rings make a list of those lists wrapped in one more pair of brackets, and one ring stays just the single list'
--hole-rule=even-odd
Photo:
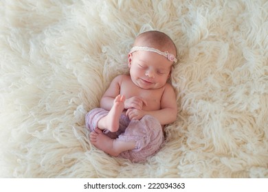
[{"label": "baby's bare raised foot and ankle, toes pointing up toward the chest", "polygon": [[108,115],[98,121],[98,128],[101,130],[109,130],[110,132],[116,132],[119,128],[119,119],[124,110],[124,95],[118,95],[113,101],[113,107],[109,111]]}]

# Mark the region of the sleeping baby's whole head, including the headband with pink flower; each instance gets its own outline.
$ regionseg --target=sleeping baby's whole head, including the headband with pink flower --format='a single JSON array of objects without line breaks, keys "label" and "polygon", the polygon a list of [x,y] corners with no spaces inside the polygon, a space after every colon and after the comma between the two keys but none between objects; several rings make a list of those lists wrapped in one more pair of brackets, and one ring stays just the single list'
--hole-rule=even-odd
[{"label": "sleeping baby's whole head, including the headband with pink flower", "polygon": [[149,31],[139,34],[129,52],[131,80],[145,89],[160,88],[177,62],[177,49],[169,36]]}]

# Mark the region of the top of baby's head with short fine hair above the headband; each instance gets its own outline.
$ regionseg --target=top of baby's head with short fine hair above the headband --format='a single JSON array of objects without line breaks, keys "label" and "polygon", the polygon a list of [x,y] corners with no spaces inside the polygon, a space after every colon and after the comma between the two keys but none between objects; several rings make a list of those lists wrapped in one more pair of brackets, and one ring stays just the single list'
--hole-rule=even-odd
[{"label": "top of baby's head with short fine hair above the headband", "polygon": [[165,33],[159,31],[148,31],[137,36],[134,46],[145,46],[169,51],[177,57],[177,47],[172,39]]}]

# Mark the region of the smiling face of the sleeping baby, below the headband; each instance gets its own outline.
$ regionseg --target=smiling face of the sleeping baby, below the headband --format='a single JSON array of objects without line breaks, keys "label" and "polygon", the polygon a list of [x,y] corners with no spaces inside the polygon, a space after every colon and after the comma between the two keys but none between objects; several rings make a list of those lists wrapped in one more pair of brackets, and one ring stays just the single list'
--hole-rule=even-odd
[{"label": "smiling face of the sleeping baby, below the headband", "polygon": [[164,86],[170,77],[172,62],[151,51],[129,54],[131,80],[140,88],[153,89]]}]

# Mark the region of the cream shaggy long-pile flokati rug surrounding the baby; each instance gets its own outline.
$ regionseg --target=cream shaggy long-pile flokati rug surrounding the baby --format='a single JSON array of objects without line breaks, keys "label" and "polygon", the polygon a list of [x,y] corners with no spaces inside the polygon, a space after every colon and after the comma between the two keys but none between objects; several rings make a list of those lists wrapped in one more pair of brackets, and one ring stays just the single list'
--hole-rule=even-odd
[{"label": "cream shaggy long-pile flokati rug surrounding the baby", "polygon": [[[0,147],[5,178],[268,178],[268,3],[0,1]],[[135,37],[177,45],[177,121],[146,163],[89,142],[85,114]]]}]

